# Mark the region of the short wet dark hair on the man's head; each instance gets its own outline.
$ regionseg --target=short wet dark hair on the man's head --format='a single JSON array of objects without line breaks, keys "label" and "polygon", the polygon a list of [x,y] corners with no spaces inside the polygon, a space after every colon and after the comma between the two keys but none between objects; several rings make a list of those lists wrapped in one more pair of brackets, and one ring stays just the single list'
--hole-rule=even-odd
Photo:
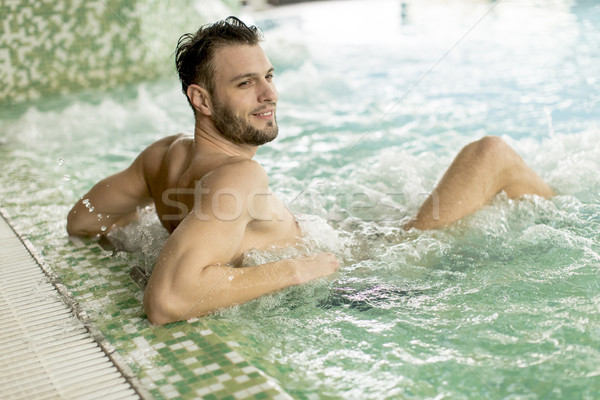
[{"label": "short wet dark hair on the man's head", "polygon": [[182,35],[177,42],[175,64],[186,98],[188,87],[194,83],[214,94],[213,61],[216,49],[232,45],[256,45],[261,40],[262,33],[256,26],[247,26],[236,17],[203,25],[195,34]]}]

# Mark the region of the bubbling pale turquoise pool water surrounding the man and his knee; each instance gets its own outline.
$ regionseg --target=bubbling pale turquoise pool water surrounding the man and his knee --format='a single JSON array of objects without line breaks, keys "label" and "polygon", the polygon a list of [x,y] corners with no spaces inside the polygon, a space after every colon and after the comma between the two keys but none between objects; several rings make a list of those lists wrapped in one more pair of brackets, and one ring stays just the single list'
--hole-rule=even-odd
[{"label": "bubbling pale turquoise pool water surrounding the man and his knee", "polygon": [[[210,323],[296,398],[598,398],[600,6],[339,5],[248,18],[280,91],[280,138],[257,159],[342,268]],[[41,102],[1,122],[4,188],[39,185],[22,214],[64,246],[75,199],[153,140],[191,132],[190,114],[175,80]],[[402,231],[483,135],[558,195],[499,195],[446,229]],[[164,240],[151,213],[127,232],[150,267]]]}]

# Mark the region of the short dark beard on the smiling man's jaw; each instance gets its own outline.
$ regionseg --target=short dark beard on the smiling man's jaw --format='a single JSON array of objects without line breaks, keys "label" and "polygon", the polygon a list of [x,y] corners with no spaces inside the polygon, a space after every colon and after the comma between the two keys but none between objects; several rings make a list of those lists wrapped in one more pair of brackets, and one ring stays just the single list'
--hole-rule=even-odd
[{"label": "short dark beard on the smiling man's jaw", "polygon": [[216,99],[213,100],[213,107],[212,118],[215,127],[221,136],[233,143],[260,146],[275,139],[279,133],[275,114],[273,121],[268,121],[265,129],[257,129]]}]

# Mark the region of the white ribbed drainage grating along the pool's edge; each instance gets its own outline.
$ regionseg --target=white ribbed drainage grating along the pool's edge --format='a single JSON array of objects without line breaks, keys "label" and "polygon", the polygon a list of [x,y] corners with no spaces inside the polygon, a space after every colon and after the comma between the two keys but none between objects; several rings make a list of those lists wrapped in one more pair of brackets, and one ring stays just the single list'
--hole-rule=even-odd
[{"label": "white ribbed drainage grating along the pool's edge", "polygon": [[[1,210],[0,210],[1,211]],[[0,392],[4,398],[139,399],[0,212]],[[58,334],[60,333],[60,334]],[[58,337],[57,337],[58,336]],[[24,384],[25,383],[25,384]]]}]

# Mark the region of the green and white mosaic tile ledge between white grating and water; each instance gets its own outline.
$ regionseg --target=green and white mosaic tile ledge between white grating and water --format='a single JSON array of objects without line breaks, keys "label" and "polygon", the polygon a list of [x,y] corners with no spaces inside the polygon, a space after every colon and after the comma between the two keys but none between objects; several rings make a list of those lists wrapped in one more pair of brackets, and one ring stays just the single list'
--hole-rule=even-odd
[{"label": "green and white mosaic tile ledge between white grating and water", "polygon": [[0,212],[142,397],[291,398],[235,350],[237,343],[202,319],[151,326],[143,315],[142,292],[129,276],[132,260],[127,254],[79,239],[44,245],[47,224],[35,222],[26,207],[11,207],[11,198],[32,195],[18,186],[0,188],[6,200]]}]

